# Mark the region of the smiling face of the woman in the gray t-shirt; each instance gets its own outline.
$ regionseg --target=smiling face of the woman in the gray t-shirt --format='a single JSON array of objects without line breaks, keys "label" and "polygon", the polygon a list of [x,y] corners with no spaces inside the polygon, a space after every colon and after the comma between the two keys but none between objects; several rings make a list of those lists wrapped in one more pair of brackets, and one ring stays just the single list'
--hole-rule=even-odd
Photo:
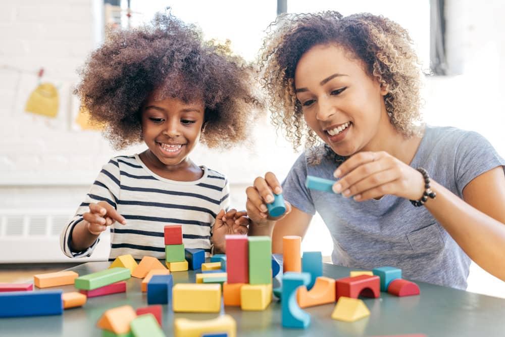
[{"label": "smiling face of the woman in the gray t-shirt", "polygon": [[383,98],[387,90],[348,55],[336,44],[316,45],[301,56],[294,76],[307,124],[345,157],[372,150],[383,139],[381,130],[392,126]]}]

